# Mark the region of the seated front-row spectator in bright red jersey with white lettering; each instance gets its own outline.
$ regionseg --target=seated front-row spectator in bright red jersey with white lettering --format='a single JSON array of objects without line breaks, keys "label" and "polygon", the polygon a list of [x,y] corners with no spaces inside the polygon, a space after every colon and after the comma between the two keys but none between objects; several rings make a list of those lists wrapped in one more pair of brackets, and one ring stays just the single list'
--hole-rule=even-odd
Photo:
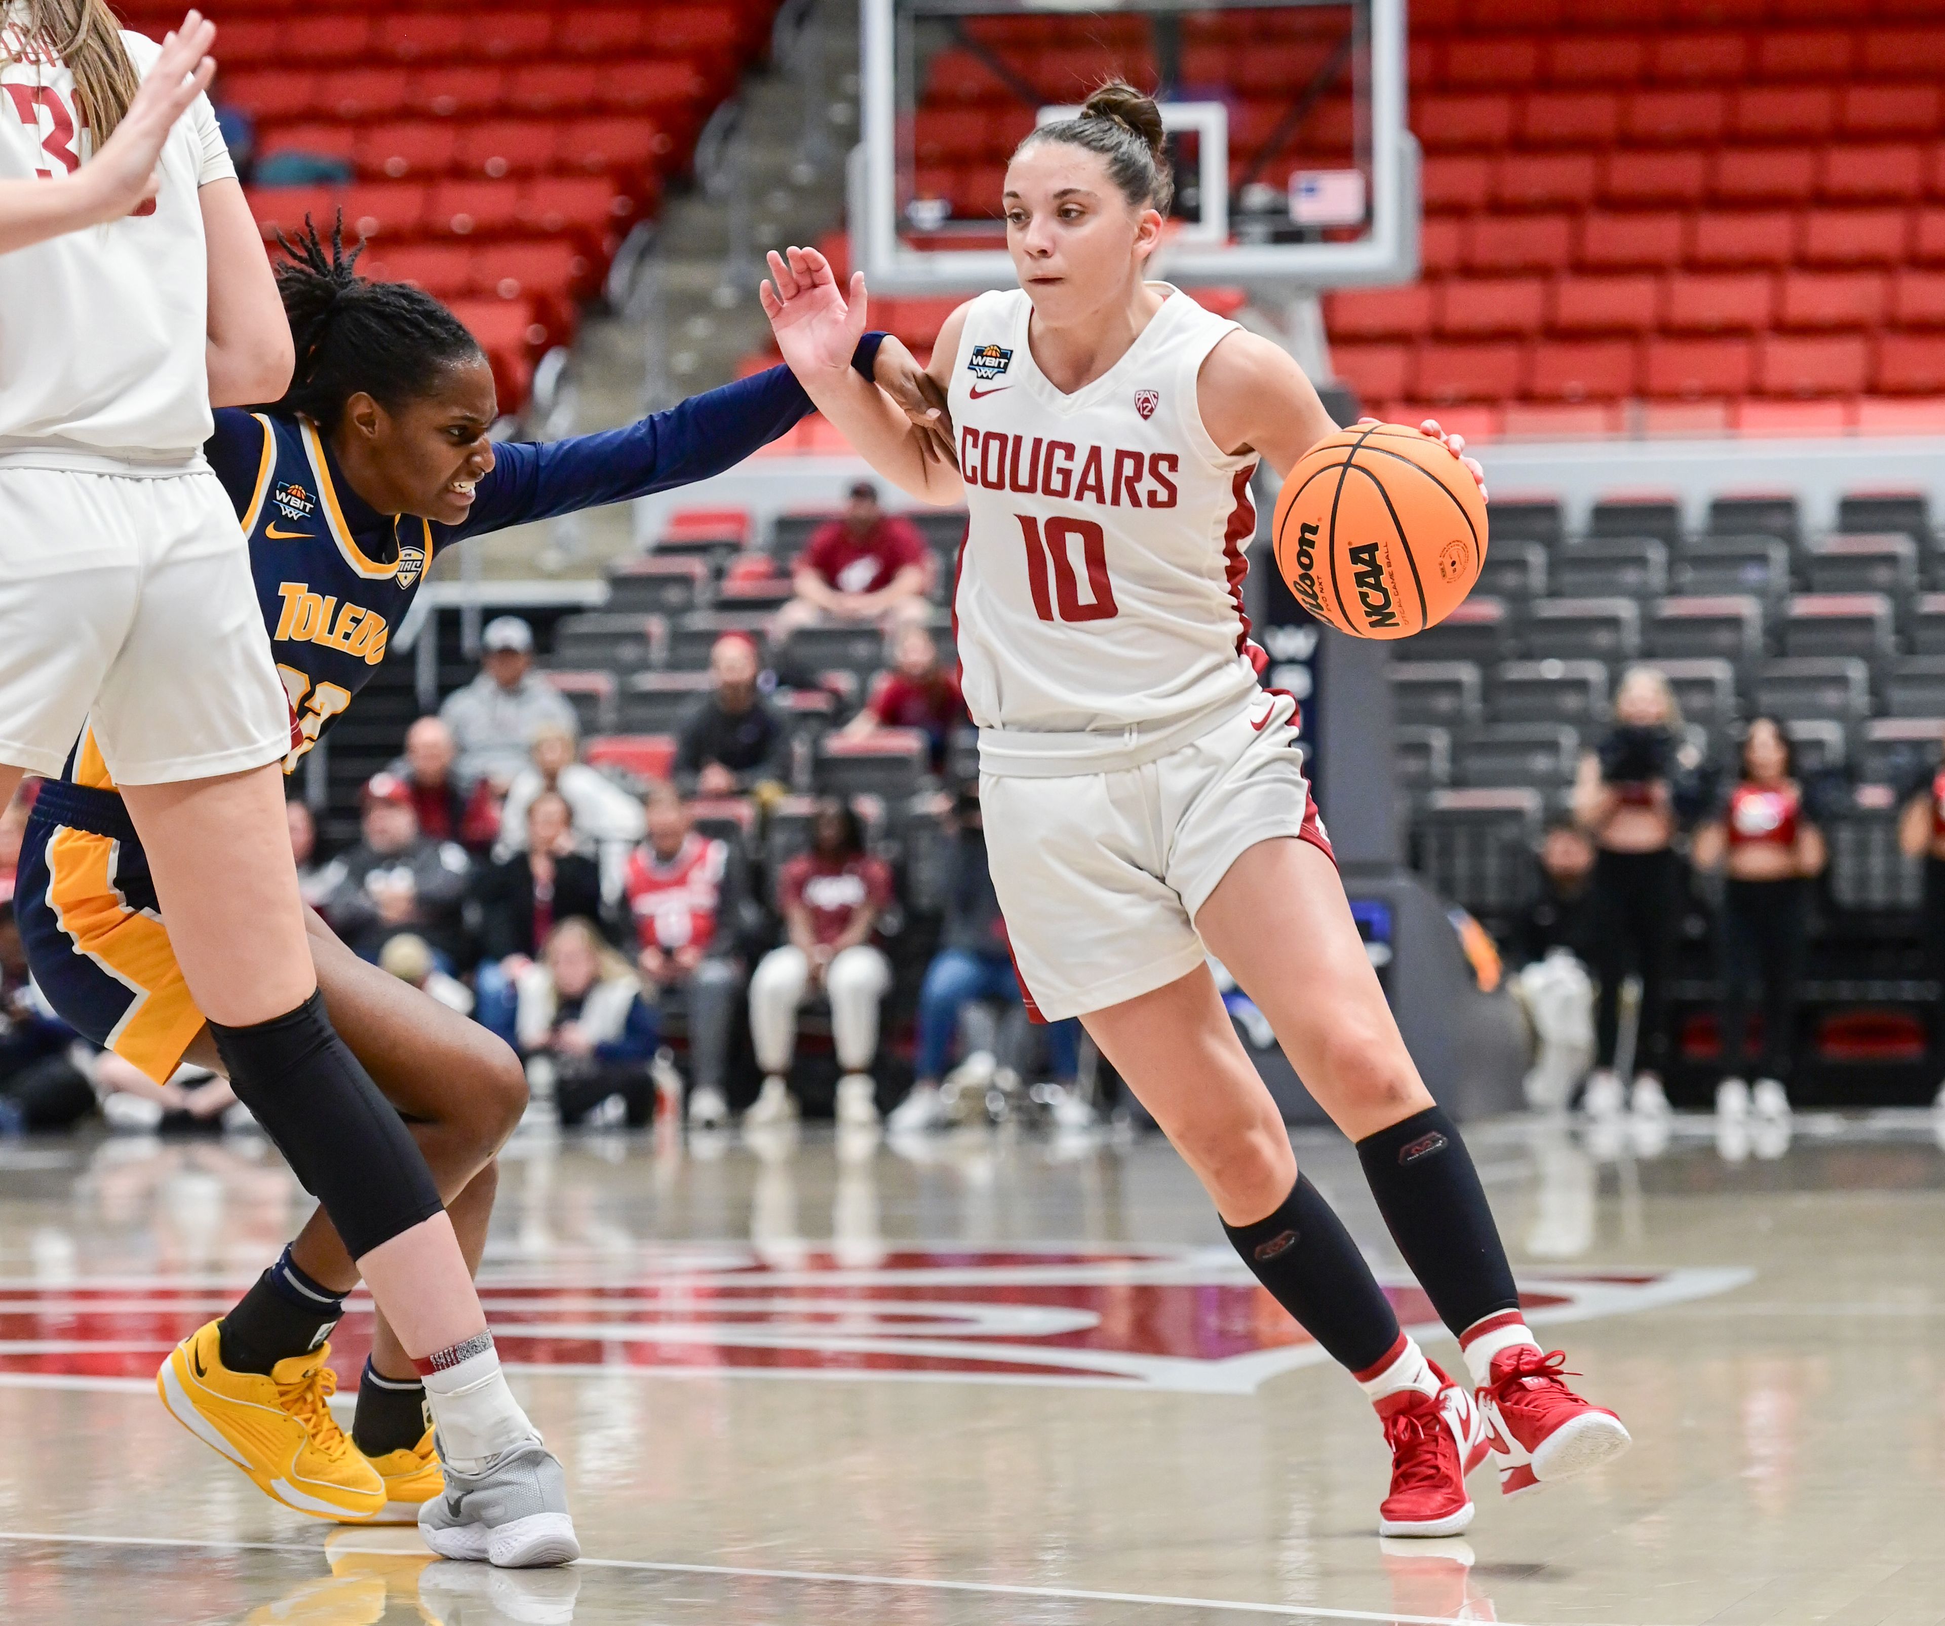
[{"label": "seated front-row spectator in bright red jersey with white lettering", "polygon": [[727,842],[696,832],[673,786],[650,790],[644,809],[648,838],[622,879],[636,967],[661,1004],[663,1025],[677,1009],[689,1025],[689,1122],[716,1126],[729,1114],[729,1023],[743,992],[735,932],[743,862]]}]

